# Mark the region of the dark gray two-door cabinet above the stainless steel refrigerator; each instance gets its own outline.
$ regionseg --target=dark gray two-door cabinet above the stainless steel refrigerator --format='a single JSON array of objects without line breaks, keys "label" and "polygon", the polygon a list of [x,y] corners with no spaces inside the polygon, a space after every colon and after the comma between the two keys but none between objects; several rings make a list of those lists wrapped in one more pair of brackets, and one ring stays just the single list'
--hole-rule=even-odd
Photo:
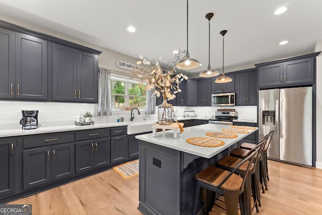
[{"label": "dark gray two-door cabinet above the stainless steel refrigerator", "polygon": [[256,64],[259,88],[299,86],[314,83],[314,63],[319,52]]}]

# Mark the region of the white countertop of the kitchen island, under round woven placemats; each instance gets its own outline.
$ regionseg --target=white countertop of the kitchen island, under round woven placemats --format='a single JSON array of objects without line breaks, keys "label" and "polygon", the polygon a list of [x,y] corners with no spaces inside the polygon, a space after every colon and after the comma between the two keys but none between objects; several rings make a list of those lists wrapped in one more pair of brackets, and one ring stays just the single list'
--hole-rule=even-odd
[{"label": "white countertop of the kitchen island, under round woven placemats", "polygon": [[243,139],[245,136],[255,132],[257,129],[248,130],[247,134],[236,133],[238,137],[236,138],[216,138],[225,142],[225,144],[221,147],[200,147],[188,144],[186,139],[190,137],[209,137],[206,136],[207,132],[210,131],[221,131],[222,128],[230,128],[231,125],[218,125],[218,124],[203,124],[192,127],[184,128],[185,131],[183,133],[178,133],[177,139],[174,139],[173,131],[167,130],[166,132],[157,132],[156,136],[153,137],[152,133],[136,135],[135,138],[144,140],[147,142],[151,142],[152,144],[156,144],[159,146],[168,147],[170,149],[179,150],[182,152],[186,152],[189,154],[193,154],[196,156],[211,158],[231,145],[235,144],[235,142]]}]

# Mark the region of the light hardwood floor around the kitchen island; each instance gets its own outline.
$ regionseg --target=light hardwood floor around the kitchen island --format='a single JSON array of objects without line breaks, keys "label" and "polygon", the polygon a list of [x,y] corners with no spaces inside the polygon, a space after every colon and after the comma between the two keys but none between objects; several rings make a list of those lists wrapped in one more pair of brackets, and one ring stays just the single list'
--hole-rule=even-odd
[{"label": "light hardwood floor around the kitchen island", "polygon": [[[260,215],[322,214],[322,170],[276,161],[268,165],[270,181],[266,193],[261,193]],[[9,203],[32,204],[33,215],[142,214],[137,210],[138,176],[123,179],[114,170]],[[214,214],[225,211],[214,206],[210,215]]]}]

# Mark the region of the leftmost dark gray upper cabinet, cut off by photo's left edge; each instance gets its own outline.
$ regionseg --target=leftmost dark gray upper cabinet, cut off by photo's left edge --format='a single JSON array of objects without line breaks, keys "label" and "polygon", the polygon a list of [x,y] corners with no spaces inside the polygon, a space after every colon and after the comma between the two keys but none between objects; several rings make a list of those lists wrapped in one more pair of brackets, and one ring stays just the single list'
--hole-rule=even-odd
[{"label": "leftmost dark gray upper cabinet, cut off by photo's left edge", "polygon": [[47,100],[47,41],[0,28],[0,47],[0,98]]}]

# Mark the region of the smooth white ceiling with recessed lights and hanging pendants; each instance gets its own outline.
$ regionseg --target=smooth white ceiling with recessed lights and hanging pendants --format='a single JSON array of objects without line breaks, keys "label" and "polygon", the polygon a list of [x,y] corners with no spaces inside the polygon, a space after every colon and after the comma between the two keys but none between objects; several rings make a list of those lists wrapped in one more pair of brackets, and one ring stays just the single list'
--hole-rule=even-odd
[{"label": "smooth white ceiling with recessed lights and hanging pendants", "polygon": [[[281,7],[286,13],[274,15]],[[207,13],[210,24],[211,68],[222,68],[225,35],[225,68],[296,56],[313,51],[322,40],[321,0],[190,0],[190,57],[208,65]],[[187,48],[186,0],[0,0],[0,13],[135,58],[162,56]],[[133,25],[137,31],[129,33]],[[279,45],[288,40],[286,45]]]}]

